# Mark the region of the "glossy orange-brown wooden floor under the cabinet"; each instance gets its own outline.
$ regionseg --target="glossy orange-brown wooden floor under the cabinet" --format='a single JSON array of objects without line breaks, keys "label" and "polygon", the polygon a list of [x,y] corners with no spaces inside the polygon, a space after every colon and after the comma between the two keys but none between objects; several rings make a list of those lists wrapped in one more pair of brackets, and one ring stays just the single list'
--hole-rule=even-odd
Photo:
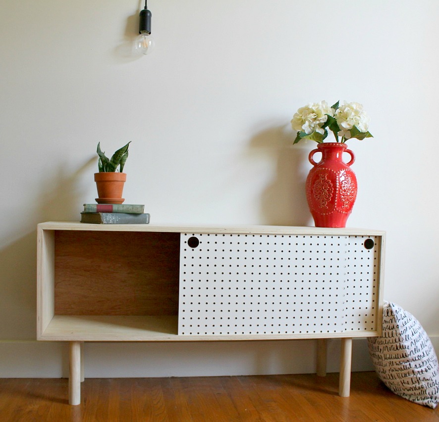
[{"label": "glossy orange-brown wooden floor under the cabinet", "polygon": [[194,378],[87,378],[82,403],[67,404],[67,379],[0,379],[0,421],[436,421],[375,373],[353,373],[351,395],[338,374]]}]

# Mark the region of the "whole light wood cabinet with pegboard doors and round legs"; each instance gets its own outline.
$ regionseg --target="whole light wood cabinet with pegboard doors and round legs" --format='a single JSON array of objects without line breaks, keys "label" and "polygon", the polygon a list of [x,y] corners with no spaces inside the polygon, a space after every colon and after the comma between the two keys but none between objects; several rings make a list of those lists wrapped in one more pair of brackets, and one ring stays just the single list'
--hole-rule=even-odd
[{"label": "whole light wood cabinet with pegboard doors and round legs", "polygon": [[384,232],[313,227],[38,225],[37,338],[83,341],[352,337],[381,333]]}]

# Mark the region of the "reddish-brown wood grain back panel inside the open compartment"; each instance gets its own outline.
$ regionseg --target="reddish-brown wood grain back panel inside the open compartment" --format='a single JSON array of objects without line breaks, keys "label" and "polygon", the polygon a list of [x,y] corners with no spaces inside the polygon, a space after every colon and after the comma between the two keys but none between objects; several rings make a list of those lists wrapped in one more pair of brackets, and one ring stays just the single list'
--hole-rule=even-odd
[{"label": "reddish-brown wood grain back panel inside the open compartment", "polygon": [[178,315],[179,239],[55,231],[55,315]]}]

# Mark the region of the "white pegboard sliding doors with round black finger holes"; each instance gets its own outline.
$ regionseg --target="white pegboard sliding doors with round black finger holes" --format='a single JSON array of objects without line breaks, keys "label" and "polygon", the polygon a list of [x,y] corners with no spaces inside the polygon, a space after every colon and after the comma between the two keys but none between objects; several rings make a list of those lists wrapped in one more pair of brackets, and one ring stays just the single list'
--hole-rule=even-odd
[{"label": "white pegboard sliding doors with round black finger holes", "polygon": [[178,333],[376,330],[376,240],[183,233]]}]

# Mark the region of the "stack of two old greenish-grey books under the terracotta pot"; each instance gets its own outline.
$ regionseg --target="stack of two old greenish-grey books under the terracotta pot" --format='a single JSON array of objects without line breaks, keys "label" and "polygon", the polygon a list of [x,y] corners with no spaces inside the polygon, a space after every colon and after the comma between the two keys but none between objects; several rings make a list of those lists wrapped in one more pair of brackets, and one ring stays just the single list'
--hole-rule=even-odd
[{"label": "stack of two old greenish-grey books under the terracotta pot", "polygon": [[151,216],[144,208],[136,204],[84,204],[81,223],[149,224]]}]

